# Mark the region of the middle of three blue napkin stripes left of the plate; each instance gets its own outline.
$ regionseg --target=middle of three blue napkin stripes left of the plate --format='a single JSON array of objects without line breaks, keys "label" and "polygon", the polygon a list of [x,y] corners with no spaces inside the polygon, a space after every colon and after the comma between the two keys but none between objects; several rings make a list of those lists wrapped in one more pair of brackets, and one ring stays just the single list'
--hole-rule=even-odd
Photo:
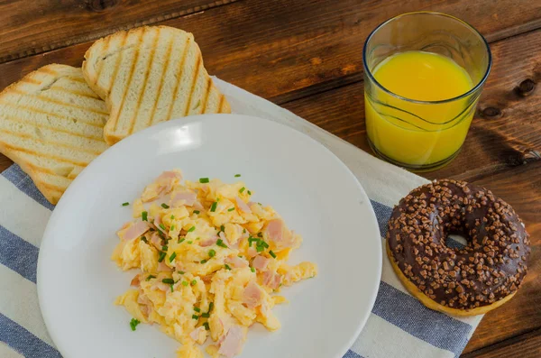
[{"label": "middle of three blue napkin stripes left of the plate", "polygon": [[0,225],[0,263],[36,283],[39,249]]}]

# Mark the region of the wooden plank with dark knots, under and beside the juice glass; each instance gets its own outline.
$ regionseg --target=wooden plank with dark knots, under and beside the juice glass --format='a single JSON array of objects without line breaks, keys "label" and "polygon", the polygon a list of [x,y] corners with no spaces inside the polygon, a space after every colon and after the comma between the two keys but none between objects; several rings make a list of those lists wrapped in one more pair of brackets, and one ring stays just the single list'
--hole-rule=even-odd
[{"label": "wooden plank with dark knots, under and beside the juice glass", "polygon": [[[515,90],[524,80],[541,81],[539,43],[541,30],[492,44],[494,66],[463,151],[447,167],[424,173],[426,178],[472,180],[541,159],[537,120],[541,89],[535,88],[530,96],[519,96]],[[283,106],[371,152],[365,137],[362,86],[354,83]],[[488,107],[498,108],[502,115],[494,119],[481,115]]]}]

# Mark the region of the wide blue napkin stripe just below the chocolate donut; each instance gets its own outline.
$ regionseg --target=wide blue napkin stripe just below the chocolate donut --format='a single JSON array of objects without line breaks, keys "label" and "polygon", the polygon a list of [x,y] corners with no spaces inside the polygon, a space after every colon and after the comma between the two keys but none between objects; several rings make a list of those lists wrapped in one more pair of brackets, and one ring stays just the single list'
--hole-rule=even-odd
[{"label": "wide blue napkin stripe just below the chocolate donut", "polygon": [[[472,326],[427,309],[412,296],[381,281],[372,313],[435,347],[460,353]],[[426,322],[430,329],[426,329]]]}]

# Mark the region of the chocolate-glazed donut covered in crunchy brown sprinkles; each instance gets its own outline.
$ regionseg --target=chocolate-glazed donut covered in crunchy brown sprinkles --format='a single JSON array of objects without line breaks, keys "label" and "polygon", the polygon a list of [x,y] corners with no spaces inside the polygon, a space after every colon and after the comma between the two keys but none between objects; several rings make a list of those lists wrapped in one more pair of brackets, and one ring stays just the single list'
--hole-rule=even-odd
[{"label": "chocolate-glazed donut covered in crunchy brown sprinkles", "polygon": [[[462,249],[445,245],[464,234]],[[387,252],[408,291],[427,308],[480,315],[517,292],[527,271],[528,234],[490,190],[439,180],[412,190],[389,220]]]}]

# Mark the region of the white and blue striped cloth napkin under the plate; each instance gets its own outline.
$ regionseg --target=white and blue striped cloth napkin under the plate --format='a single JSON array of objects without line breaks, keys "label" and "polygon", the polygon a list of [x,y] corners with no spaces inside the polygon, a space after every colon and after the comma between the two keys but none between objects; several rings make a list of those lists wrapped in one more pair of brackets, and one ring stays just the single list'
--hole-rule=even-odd
[{"label": "white and blue striped cloth napkin under the plate", "polygon": [[[384,249],[391,208],[409,190],[426,183],[327,133],[265,99],[215,78],[234,113],[271,119],[306,133],[333,151],[353,171],[371,198]],[[0,175],[0,356],[60,357],[41,318],[36,263],[41,234],[54,208],[13,165]],[[383,253],[380,291],[368,323],[344,358],[456,357],[478,317],[449,317],[411,297]]]}]

